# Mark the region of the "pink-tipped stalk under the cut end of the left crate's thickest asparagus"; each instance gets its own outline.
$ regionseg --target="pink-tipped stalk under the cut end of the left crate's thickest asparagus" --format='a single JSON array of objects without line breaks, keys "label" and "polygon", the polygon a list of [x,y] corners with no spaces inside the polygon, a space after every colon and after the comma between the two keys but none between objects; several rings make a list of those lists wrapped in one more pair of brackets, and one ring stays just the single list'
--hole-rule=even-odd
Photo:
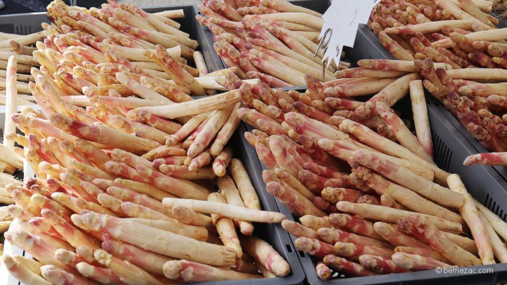
[{"label": "pink-tipped stalk under the cut end of the left crate's thickest asparagus", "polygon": [[[189,274],[189,272],[191,272]],[[174,260],[164,264],[164,275],[179,282],[206,282],[261,278],[259,275],[219,269],[209,265],[187,261]]]}]

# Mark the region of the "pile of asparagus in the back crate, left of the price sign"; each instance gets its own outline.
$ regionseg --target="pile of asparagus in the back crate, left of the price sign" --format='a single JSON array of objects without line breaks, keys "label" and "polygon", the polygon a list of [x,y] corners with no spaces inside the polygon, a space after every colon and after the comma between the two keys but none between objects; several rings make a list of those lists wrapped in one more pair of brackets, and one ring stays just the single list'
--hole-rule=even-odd
[{"label": "pile of asparagus in the back crate, left of the price sign", "polygon": [[[317,50],[322,15],[286,0],[204,1],[197,20],[214,34],[213,48],[241,79],[259,78],[270,87],[304,85],[304,75],[322,78]],[[325,81],[349,63],[332,64]]]}]

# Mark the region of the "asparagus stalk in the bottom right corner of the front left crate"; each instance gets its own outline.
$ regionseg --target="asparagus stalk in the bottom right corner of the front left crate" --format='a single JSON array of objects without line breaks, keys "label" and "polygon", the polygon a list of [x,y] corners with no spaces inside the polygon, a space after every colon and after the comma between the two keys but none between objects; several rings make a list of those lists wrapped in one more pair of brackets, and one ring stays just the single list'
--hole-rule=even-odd
[{"label": "asparagus stalk in the bottom right corner of the front left crate", "polygon": [[253,237],[241,237],[243,250],[276,276],[283,277],[291,272],[288,263],[266,241]]}]

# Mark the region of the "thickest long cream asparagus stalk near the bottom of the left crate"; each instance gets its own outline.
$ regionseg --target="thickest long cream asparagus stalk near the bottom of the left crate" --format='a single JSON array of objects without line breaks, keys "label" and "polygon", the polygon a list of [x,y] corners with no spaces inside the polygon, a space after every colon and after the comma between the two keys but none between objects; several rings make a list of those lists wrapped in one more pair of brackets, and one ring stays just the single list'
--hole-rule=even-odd
[{"label": "thickest long cream asparagus stalk near the bottom of the left crate", "polygon": [[[197,241],[142,224],[123,221],[106,215],[97,215],[93,212],[86,212],[81,216],[73,215],[71,218],[81,228],[98,228],[116,239],[158,254],[174,258],[188,258],[196,262],[217,266],[234,264],[235,252],[224,246]],[[163,238],[163,242],[147,242],[152,240],[154,236]],[[171,245],[169,246],[169,244]],[[203,250],[206,255],[202,255]]]}]

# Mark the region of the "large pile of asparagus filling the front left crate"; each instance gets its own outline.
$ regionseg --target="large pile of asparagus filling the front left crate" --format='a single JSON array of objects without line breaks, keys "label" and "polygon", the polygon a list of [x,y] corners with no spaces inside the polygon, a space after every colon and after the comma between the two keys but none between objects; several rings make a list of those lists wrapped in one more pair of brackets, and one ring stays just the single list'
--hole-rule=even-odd
[{"label": "large pile of asparagus filling the front left crate", "polygon": [[[55,94],[51,98],[61,100]],[[188,103],[211,108],[206,99]],[[238,100],[221,106],[230,113]],[[182,104],[173,105],[195,111]],[[196,112],[212,113],[205,114],[209,119],[201,130],[195,123],[199,116],[180,128],[196,133],[188,150],[180,143],[160,146],[98,121],[87,124],[58,112],[49,118],[33,110],[14,114],[25,135],[9,137],[24,147],[37,177],[6,186],[15,204],[5,208],[13,219],[5,237],[38,262],[4,256],[8,270],[25,284],[46,284],[45,279],[65,284],[219,281],[261,278],[259,270],[265,277],[287,275],[287,262],[252,235],[252,222],[278,223],[285,216],[261,210],[241,161],[225,146],[228,138],[212,167],[207,166],[209,150],[207,155],[187,156],[196,145],[206,148],[218,130],[227,129],[224,121],[228,133],[237,126],[229,121],[235,116],[226,113],[228,120],[223,119],[222,110],[201,111]],[[155,128],[150,133],[160,135]],[[220,192],[215,192],[215,184]]]}]

